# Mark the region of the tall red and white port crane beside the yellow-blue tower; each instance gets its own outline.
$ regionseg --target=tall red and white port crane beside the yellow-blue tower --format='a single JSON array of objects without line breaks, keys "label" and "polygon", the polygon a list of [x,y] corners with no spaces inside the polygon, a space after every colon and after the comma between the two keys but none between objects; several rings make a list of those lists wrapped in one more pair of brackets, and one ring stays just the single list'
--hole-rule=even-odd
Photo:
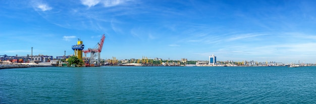
[{"label": "tall red and white port crane beside the yellow-blue tower", "polygon": [[[106,36],[104,36],[104,34],[103,34],[100,42],[96,44],[96,47],[88,48],[88,50],[82,50],[82,52],[84,53],[85,57],[86,57],[87,53],[90,53],[90,58],[89,58],[89,64],[90,65],[94,65],[93,63],[95,61],[95,57],[96,56],[97,56],[97,65],[98,66],[101,65],[101,63],[100,63],[100,61],[101,61],[100,53],[102,51],[104,39],[106,39]],[[97,53],[97,54],[95,54],[95,53]]]}]

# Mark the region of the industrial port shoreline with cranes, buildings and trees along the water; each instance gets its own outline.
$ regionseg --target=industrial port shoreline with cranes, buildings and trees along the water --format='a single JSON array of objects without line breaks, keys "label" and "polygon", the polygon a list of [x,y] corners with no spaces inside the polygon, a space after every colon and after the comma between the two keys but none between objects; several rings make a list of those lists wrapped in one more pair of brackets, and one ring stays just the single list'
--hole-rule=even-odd
[{"label": "industrial port shoreline with cranes, buildings and trees along the water", "polygon": [[[116,57],[112,59],[101,59],[100,53],[104,39],[106,37],[102,35],[100,41],[93,48],[84,49],[83,41],[78,39],[77,44],[71,46],[74,51],[73,55],[64,56],[49,56],[49,55],[33,55],[33,47],[31,47],[31,55],[26,56],[8,56],[0,55],[0,69],[3,68],[24,68],[24,67],[50,67],[50,66],[71,66],[71,67],[93,67],[93,66],[289,66],[289,67],[301,67],[301,66],[314,66],[315,64],[305,63],[281,63],[281,62],[257,62],[257,61],[217,61],[215,55],[208,57],[208,61],[200,60],[187,60],[182,58],[181,60],[170,60],[161,58],[142,58],[135,59],[123,59],[118,60]],[[87,54],[90,57],[87,57]],[[77,63],[71,63],[69,59],[76,58],[79,61]]]}]

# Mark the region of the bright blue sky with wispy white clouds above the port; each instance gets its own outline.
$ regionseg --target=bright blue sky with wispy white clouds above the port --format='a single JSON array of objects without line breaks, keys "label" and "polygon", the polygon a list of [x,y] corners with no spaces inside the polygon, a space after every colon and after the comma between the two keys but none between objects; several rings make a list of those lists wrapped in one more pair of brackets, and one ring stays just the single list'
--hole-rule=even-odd
[{"label": "bright blue sky with wispy white clouds above the port", "polygon": [[316,63],[315,1],[0,1],[0,55]]}]

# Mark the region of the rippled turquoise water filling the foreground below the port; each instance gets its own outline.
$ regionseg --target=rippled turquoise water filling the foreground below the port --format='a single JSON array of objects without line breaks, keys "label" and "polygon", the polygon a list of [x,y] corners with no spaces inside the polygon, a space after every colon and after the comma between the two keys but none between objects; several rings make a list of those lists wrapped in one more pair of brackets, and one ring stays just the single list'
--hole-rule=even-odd
[{"label": "rippled turquoise water filling the foreground below the port", "polygon": [[0,103],[316,103],[316,67],[0,70]]}]

